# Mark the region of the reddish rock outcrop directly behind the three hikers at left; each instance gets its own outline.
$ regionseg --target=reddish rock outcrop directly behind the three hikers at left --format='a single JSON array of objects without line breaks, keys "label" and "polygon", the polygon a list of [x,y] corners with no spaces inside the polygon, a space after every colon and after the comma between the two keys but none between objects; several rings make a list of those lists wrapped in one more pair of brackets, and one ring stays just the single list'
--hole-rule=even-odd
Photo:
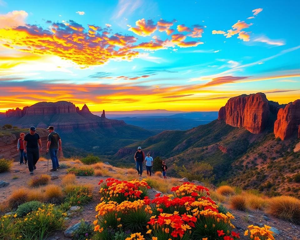
[{"label": "reddish rock outcrop directly behind the three hikers at left", "polygon": [[[46,153],[47,137],[49,132],[46,129],[38,128],[37,133],[40,135],[42,141],[43,148],[40,151],[40,156],[42,157]],[[16,162],[19,161],[18,151],[17,151],[18,139],[19,139],[19,134],[9,134],[8,136],[4,136],[0,138],[0,158],[5,158],[5,159],[14,158]]]}]

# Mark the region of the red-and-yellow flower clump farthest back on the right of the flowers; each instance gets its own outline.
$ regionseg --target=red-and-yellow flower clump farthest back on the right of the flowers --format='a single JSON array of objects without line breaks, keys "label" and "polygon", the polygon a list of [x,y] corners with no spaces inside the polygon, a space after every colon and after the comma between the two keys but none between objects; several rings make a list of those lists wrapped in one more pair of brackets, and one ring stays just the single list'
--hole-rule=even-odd
[{"label": "red-and-yellow flower clump farthest back on the right of the flowers", "polygon": [[209,196],[208,188],[189,182],[185,182],[180,186],[172,187],[171,191],[177,197],[191,196],[196,198]]}]

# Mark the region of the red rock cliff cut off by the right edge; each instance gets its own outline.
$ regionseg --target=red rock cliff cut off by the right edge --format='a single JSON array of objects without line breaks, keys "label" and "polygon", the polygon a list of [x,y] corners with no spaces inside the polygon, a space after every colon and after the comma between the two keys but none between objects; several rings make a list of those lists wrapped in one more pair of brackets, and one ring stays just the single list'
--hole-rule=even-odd
[{"label": "red rock cliff cut off by the right edge", "polygon": [[274,135],[284,140],[294,135],[300,137],[300,99],[281,108],[274,123]]}]

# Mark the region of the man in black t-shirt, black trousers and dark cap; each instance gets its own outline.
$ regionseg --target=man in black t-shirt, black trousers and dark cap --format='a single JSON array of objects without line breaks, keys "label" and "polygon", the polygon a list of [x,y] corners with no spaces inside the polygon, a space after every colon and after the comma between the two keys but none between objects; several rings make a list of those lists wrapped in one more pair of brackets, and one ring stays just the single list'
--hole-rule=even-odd
[{"label": "man in black t-shirt, black trousers and dark cap", "polygon": [[42,141],[40,135],[36,133],[37,129],[31,127],[29,133],[24,137],[24,152],[27,155],[27,163],[30,174],[33,174],[33,170],[37,169],[35,166],[40,158],[38,146],[42,148]]}]

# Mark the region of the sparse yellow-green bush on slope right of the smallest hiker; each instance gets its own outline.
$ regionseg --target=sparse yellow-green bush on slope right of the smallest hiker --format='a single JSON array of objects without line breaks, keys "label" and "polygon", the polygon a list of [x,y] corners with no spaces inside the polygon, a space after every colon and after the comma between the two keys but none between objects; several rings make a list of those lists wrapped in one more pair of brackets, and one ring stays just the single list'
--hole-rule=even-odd
[{"label": "sparse yellow-green bush on slope right of the smallest hiker", "polygon": [[199,182],[211,183],[214,180],[212,175],[213,167],[208,163],[194,163],[186,168],[174,166],[176,172],[182,177],[187,178],[189,181],[197,180]]}]

